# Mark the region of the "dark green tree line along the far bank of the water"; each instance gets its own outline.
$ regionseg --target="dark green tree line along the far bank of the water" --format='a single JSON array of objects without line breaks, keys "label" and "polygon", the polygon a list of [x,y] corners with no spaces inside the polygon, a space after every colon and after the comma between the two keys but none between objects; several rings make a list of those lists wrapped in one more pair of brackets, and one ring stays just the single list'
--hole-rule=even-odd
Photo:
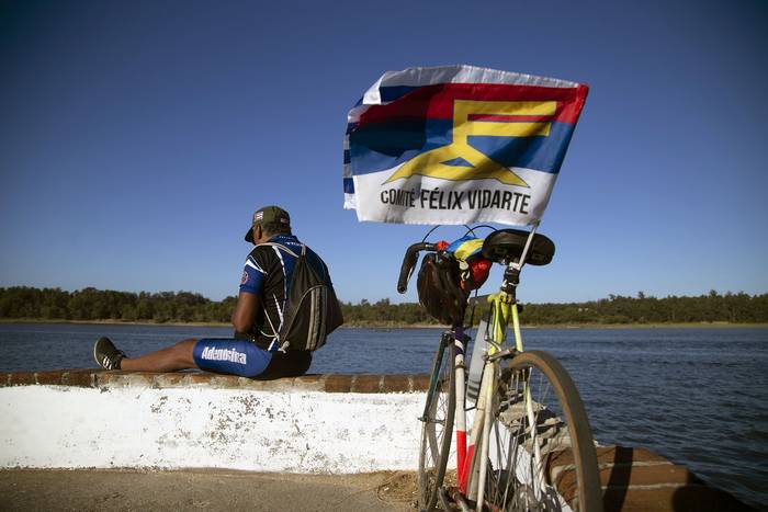
[{"label": "dark green tree line along the far bank of the water", "polygon": [[[131,293],[83,288],[67,292],[60,288],[15,286],[0,288],[0,319],[30,320],[114,320],[151,322],[229,322],[235,297],[211,300],[191,292]],[[477,307],[467,308],[467,322],[481,315],[484,297]],[[341,303],[347,326],[434,325],[416,303],[392,304],[389,299],[358,304]],[[635,297],[609,295],[584,303],[526,304],[526,325],[572,323],[684,323],[684,322],[768,322],[768,294],[720,294],[711,291],[696,297],[650,297],[640,292]]]}]

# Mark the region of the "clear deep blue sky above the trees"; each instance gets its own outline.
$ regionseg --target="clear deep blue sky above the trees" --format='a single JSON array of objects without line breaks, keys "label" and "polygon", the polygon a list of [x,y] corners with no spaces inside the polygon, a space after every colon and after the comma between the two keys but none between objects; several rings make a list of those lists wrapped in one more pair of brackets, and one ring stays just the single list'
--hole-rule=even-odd
[{"label": "clear deep blue sky above the trees", "polygon": [[0,286],[221,299],[276,203],[341,299],[400,300],[426,228],[342,209],[347,111],[472,64],[591,87],[523,300],[765,293],[767,50],[764,1],[1,2]]}]

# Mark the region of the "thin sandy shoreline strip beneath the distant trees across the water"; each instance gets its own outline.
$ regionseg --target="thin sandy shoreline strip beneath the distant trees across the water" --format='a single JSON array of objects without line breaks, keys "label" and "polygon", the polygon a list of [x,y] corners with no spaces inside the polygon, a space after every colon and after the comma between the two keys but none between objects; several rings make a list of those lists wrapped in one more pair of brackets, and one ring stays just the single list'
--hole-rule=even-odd
[{"label": "thin sandy shoreline strip beneath the distant trees across the water", "polygon": [[[169,327],[231,327],[227,322],[153,322],[153,321],[123,321],[123,320],[66,320],[66,319],[38,319],[38,318],[0,318],[0,325],[9,323],[71,323],[92,326],[169,326]],[[354,322],[345,325],[346,329],[445,329],[445,326],[431,323],[388,323],[388,322]],[[768,329],[768,323],[731,323],[725,321],[714,322],[676,322],[676,323],[544,323],[522,325],[523,329]]]}]

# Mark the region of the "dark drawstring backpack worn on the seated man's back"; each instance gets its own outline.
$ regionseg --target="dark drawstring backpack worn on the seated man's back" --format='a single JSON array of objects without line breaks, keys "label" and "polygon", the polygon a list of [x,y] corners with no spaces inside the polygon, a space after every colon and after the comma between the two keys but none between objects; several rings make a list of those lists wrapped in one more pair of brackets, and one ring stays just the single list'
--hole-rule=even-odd
[{"label": "dark drawstring backpack worn on the seated man's back", "polygon": [[[343,323],[341,307],[334,286],[325,272],[317,272],[309,264],[307,248],[296,254],[281,243],[264,242],[296,258],[291,277],[291,288],[285,300],[283,323],[276,335],[279,350],[315,351],[326,343],[326,338]],[[268,316],[269,318],[269,316]]]}]

